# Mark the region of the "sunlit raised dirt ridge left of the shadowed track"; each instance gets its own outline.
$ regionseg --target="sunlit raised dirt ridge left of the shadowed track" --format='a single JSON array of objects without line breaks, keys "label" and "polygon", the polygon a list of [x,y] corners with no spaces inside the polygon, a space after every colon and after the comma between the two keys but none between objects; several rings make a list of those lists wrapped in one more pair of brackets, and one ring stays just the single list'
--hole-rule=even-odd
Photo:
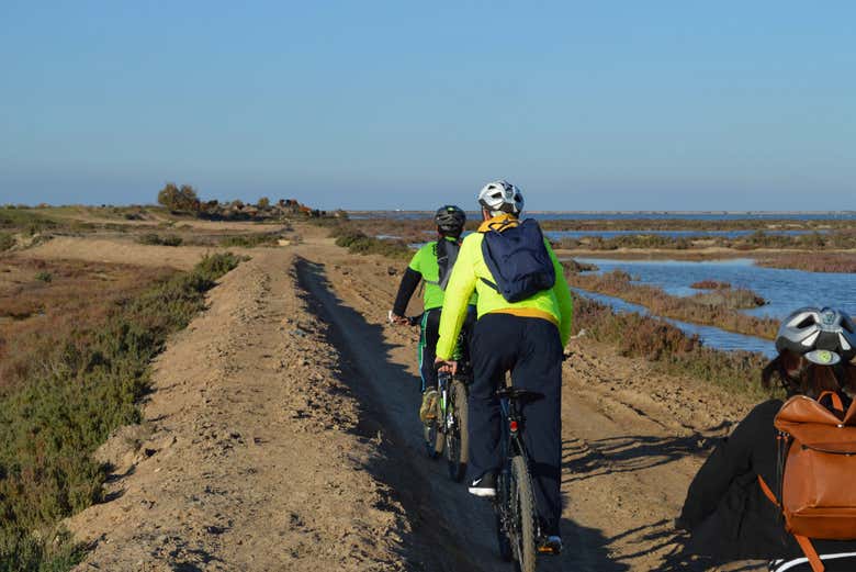
[{"label": "sunlit raised dirt ridge left of the shadowed track", "polygon": [[69,521],[79,570],[405,570],[429,552],[373,476],[339,355],[291,255],[261,250],[156,367],[146,423],[104,447],[111,501]]}]

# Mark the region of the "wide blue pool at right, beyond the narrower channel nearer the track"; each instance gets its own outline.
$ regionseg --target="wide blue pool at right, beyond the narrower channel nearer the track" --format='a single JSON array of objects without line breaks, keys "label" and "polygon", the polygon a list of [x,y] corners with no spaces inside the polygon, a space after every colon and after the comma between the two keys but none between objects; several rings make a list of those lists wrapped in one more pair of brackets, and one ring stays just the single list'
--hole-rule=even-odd
[{"label": "wide blue pool at right, beyond the narrower channel nearer the track", "polygon": [[781,319],[801,306],[834,306],[856,315],[856,276],[833,272],[806,272],[781,268],[764,268],[754,260],[611,260],[579,258],[597,265],[601,272],[623,270],[640,283],[656,285],[678,296],[691,295],[689,288],[700,280],[730,282],[734,288],[748,288],[769,304],[744,312],[755,316]]}]

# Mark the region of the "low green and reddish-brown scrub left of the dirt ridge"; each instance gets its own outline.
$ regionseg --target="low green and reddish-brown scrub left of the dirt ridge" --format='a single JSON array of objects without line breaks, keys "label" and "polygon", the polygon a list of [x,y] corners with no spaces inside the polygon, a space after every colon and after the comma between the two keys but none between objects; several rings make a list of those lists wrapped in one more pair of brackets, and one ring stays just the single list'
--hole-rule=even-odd
[{"label": "low green and reddish-brown scrub left of the dirt ridge", "polygon": [[[50,283],[3,282],[0,572],[68,570],[81,558],[57,524],[102,500],[109,468],[91,453],[140,420],[151,359],[238,261],[213,255],[189,272],[43,262]],[[10,266],[10,276],[31,272]]]}]

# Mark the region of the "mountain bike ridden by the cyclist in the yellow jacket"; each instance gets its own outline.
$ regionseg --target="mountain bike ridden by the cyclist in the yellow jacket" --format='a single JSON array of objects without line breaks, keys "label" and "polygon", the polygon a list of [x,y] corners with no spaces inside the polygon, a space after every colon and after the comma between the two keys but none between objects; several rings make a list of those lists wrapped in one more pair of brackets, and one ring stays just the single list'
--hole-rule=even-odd
[{"label": "mountain bike ridden by the cyclist in the yellow jacket", "polygon": [[539,545],[541,526],[529,472],[529,455],[523,444],[526,419],[520,404],[543,395],[515,388],[497,390],[496,395],[503,414],[503,464],[497,474],[494,497],[499,553],[507,562],[514,560],[517,570],[534,572],[539,553],[555,552]]}]

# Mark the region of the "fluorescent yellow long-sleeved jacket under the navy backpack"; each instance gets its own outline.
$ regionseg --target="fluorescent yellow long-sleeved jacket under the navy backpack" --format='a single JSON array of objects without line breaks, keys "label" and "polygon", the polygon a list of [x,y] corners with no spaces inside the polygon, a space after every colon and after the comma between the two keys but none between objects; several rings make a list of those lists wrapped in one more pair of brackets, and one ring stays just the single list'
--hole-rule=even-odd
[{"label": "fluorescent yellow long-sleeved jacket under the navy backpack", "polygon": [[555,284],[553,284],[552,289],[538,292],[533,296],[520,302],[508,302],[503,298],[503,294],[482,281],[482,278],[485,278],[496,283],[496,279],[491,273],[482,256],[483,233],[492,227],[502,228],[516,226],[517,224],[519,222],[514,216],[502,214],[485,221],[478,227],[477,233],[473,233],[463,239],[461,250],[458,253],[458,260],[452,269],[452,276],[449,278],[449,284],[446,287],[446,298],[443,300],[442,313],[440,314],[440,339],[437,343],[438,358],[451,358],[458,340],[458,334],[461,332],[461,326],[466,316],[466,304],[473,291],[476,291],[478,294],[478,303],[476,305],[478,318],[485,314],[493,313],[543,318],[552,322],[559,328],[562,347],[567,344],[567,338],[571,335],[571,315],[573,312],[571,291],[567,288],[562,265],[559,262],[555,254],[553,254],[553,249],[547,239],[544,239],[547,251],[555,269]]}]

